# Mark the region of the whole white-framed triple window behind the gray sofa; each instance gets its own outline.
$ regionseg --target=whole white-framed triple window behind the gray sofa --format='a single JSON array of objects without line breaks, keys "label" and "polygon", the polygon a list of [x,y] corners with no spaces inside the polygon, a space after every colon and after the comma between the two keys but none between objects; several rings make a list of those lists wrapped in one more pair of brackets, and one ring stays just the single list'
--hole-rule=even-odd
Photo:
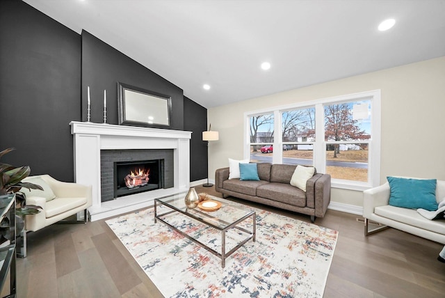
[{"label": "whole white-framed triple window behind the gray sofa", "polygon": [[252,111],[245,119],[251,162],[315,166],[338,188],[380,184],[380,91]]}]

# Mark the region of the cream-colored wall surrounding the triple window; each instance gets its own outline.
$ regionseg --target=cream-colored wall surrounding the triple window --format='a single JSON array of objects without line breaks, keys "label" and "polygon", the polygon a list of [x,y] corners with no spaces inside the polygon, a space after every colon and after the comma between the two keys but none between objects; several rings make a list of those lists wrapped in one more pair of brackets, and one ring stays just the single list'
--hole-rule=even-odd
[{"label": "cream-colored wall surrounding the triple window", "polygon": [[[245,111],[375,89],[382,96],[380,182],[387,175],[445,180],[445,56],[209,109],[220,133],[209,143],[209,178],[227,158],[243,158]],[[362,192],[332,189],[331,201],[362,206]]]}]

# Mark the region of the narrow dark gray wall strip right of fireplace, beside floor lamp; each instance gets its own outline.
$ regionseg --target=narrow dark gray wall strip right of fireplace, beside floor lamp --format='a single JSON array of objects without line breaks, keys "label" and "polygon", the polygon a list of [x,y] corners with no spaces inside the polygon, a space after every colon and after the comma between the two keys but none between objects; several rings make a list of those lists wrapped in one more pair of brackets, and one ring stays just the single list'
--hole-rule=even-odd
[{"label": "narrow dark gray wall strip right of fireplace, beside floor lamp", "polygon": [[184,130],[192,133],[190,141],[190,180],[207,179],[207,142],[202,132],[207,130],[207,109],[184,96]]}]

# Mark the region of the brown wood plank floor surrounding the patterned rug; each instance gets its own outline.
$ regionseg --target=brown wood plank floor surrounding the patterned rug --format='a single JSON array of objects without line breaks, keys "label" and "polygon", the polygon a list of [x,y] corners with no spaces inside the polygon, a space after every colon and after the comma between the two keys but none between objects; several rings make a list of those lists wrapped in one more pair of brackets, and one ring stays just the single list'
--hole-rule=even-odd
[{"label": "brown wood plank floor surrounding the patterned rug", "polygon": [[[215,196],[213,187],[196,187]],[[248,203],[229,198],[240,203]],[[249,203],[286,216],[309,217]],[[444,297],[442,244],[389,228],[364,237],[357,216],[327,210],[316,224],[339,231],[324,297]],[[163,297],[104,220],[28,234],[17,259],[17,297]]]}]

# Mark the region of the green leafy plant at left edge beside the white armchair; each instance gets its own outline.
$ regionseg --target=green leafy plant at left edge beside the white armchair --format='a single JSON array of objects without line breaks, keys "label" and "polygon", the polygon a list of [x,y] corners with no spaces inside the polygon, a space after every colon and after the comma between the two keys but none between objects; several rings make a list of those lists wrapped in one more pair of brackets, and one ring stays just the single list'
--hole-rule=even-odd
[{"label": "green leafy plant at left edge beside the white armchair", "polygon": [[[7,153],[13,151],[14,148],[8,148],[6,150],[3,150],[0,152],[0,158],[3,157],[3,155],[6,155]],[[40,189],[43,190],[40,185],[35,185],[30,182],[22,182],[22,180],[29,176],[31,173],[31,168],[29,166],[11,166],[10,164],[3,164],[3,162],[0,162],[0,196],[7,195],[7,194],[15,194],[16,198],[16,209],[15,209],[15,220],[16,220],[16,230],[17,235],[19,235],[22,230],[24,229],[24,217],[28,214],[37,214],[40,212],[39,209],[42,209],[40,206],[36,205],[26,205],[26,197],[25,194],[20,192],[20,189],[22,187],[27,189]],[[3,221],[6,221],[9,219],[3,219]],[[4,236],[6,235],[5,226],[9,226],[6,222],[0,223],[0,235]],[[7,239],[6,239],[7,240]],[[3,239],[5,241],[5,239]],[[0,244],[2,243],[2,240],[0,240]]]}]

